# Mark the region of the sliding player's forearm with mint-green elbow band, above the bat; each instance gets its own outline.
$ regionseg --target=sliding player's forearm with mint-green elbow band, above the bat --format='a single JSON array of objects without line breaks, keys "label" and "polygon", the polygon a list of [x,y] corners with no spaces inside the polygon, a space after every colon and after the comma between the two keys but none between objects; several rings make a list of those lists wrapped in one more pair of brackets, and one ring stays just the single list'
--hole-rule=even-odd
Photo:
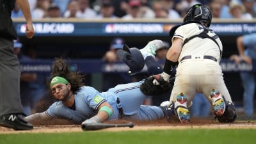
[{"label": "sliding player's forearm with mint-green elbow band, above the bat", "polygon": [[105,120],[108,120],[108,118],[113,114],[113,108],[106,101],[100,104],[100,106],[97,108],[97,111],[97,115],[85,120],[82,124],[104,122]]}]

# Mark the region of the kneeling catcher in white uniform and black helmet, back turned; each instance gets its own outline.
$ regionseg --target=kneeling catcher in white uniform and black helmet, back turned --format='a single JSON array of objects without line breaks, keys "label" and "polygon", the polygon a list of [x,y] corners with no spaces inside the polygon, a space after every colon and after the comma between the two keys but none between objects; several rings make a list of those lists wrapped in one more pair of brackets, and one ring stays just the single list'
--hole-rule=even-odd
[{"label": "kneeling catcher in white uniform and black helmet, back turned", "polygon": [[[195,4],[186,13],[183,24],[170,30],[172,46],[166,54],[164,72],[159,76],[168,81],[177,65],[168,109],[182,123],[190,120],[188,108],[196,92],[204,93],[211,101],[219,122],[236,120],[235,106],[219,65],[223,47],[218,35],[209,29],[211,20],[209,8]],[[157,80],[153,83],[159,84]]]}]

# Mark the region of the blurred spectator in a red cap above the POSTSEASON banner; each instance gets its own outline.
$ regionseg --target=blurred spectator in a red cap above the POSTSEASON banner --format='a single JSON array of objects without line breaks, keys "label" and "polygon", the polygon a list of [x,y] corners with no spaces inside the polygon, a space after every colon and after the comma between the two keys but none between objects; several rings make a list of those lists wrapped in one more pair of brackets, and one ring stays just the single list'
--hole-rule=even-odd
[{"label": "blurred spectator in a red cap above the POSTSEASON banner", "polygon": [[127,15],[124,15],[124,17],[122,17],[122,19],[131,20],[131,19],[139,18],[140,7],[141,7],[140,1],[138,1],[138,0],[129,1]]}]

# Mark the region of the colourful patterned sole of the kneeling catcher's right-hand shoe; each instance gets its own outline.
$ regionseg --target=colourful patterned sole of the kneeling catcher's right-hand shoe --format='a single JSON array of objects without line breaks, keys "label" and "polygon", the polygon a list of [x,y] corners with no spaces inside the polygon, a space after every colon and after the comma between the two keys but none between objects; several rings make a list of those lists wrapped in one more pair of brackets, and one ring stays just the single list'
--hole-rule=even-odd
[{"label": "colourful patterned sole of the kneeling catcher's right-hand shoe", "polygon": [[218,90],[212,89],[211,91],[211,100],[212,100],[212,109],[217,116],[223,115],[225,112],[225,100],[221,96],[221,93]]}]

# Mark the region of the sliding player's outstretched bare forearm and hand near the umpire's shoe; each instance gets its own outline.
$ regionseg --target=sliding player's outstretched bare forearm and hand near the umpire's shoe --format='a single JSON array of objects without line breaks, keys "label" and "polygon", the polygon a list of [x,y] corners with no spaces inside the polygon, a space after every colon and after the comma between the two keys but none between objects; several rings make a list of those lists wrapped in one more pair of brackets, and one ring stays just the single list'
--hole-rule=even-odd
[{"label": "sliding player's outstretched bare forearm and hand near the umpire's shoe", "polygon": [[24,120],[26,120],[27,122],[29,122],[31,124],[38,124],[40,122],[47,122],[50,119],[51,119],[51,117],[49,117],[47,115],[46,111],[44,111],[42,113],[34,113],[32,115],[24,117]]}]

